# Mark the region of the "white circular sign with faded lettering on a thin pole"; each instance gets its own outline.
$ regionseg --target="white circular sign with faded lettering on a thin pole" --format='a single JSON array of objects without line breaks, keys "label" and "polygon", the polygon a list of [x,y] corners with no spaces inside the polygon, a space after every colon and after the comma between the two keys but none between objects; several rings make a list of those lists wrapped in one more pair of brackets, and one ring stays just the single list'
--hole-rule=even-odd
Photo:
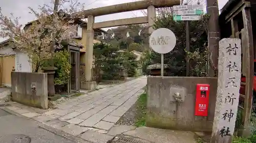
[{"label": "white circular sign with faded lettering on a thin pole", "polygon": [[157,53],[168,53],[176,45],[174,33],[167,28],[159,28],[150,36],[150,47]]}]

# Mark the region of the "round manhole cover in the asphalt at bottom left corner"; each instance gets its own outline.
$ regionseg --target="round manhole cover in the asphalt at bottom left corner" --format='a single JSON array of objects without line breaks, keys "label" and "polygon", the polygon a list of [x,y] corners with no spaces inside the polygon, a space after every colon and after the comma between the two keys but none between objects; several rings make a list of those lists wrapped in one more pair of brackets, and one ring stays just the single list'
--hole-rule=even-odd
[{"label": "round manhole cover in the asphalt at bottom left corner", "polygon": [[23,134],[0,136],[0,143],[30,143],[30,137]]}]

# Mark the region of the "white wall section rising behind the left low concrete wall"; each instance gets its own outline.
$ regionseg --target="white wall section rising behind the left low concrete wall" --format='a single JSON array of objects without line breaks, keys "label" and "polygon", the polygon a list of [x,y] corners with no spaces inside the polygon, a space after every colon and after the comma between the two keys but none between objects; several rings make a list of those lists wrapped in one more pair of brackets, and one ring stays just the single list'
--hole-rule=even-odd
[{"label": "white wall section rising behind the left low concrete wall", "polygon": [[26,53],[21,51],[15,52],[15,65],[15,71],[17,72],[32,72],[32,66]]}]

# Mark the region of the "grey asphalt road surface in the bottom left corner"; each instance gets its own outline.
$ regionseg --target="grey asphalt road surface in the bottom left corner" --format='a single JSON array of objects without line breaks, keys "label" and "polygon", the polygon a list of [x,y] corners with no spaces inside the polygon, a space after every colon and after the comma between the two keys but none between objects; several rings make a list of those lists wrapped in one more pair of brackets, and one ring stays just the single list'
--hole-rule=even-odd
[{"label": "grey asphalt road surface in the bottom left corner", "polygon": [[[30,138],[31,143],[74,143],[74,141],[39,128],[36,121],[12,115],[0,108],[0,143],[9,143],[12,137],[15,137],[13,134],[26,135]],[[4,138],[7,136],[10,139],[6,141]],[[23,142],[26,139],[18,140],[17,138],[16,140],[18,143],[27,143],[26,141]]]}]

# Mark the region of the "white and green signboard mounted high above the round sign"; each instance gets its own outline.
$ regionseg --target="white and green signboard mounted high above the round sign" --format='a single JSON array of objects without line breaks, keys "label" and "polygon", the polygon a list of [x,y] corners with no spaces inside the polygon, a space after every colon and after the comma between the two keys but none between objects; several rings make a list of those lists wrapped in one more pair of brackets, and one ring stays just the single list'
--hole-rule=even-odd
[{"label": "white and green signboard mounted high above the round sign", "polygon": [[173,18],[175,21],[200,20],[203,14],[203,5],[173,6]]}]

